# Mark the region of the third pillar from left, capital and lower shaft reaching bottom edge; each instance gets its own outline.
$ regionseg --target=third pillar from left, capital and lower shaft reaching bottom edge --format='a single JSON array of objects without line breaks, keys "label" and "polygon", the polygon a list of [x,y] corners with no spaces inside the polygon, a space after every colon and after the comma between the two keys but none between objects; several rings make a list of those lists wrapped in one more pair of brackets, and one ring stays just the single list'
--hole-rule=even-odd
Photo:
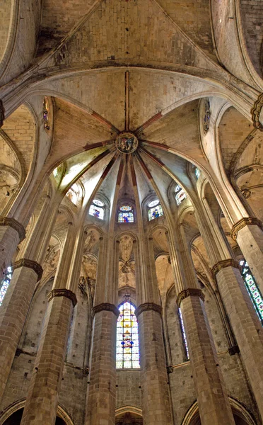
[{"label": "third pillar from left, capital and lower shaft reaching bottom edge", "polygon": [[66,289],[59,291],[59,296],[53,294],[49,297],[47,316],[21,425],[54,425],[56,421],[58,392],[73,310],[71,291]]}]

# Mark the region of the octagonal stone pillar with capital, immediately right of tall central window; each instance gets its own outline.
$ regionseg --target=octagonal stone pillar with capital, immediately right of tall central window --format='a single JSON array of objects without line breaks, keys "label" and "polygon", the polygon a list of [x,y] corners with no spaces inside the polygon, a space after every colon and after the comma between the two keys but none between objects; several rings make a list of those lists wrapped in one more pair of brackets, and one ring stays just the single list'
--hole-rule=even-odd
[{"label": "octagonal stone pillar with capital, immediately right of tall central window", "polygon": [[163,344],[162,308],[153,303],[140,305],[139,322],[141,387],[144,423],[171,425],[171,405]]}]

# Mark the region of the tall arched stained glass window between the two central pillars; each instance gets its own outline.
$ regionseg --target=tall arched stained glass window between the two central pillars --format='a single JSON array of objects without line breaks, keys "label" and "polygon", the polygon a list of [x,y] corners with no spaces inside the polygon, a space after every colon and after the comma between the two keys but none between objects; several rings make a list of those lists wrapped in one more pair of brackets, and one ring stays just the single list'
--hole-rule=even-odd
[{"label": "tall arched stained glass window between the two central pillars", "polygon": [[119,305],[116,345],[117,369],[138,369],[140,367],[138,322],[134,311],[135,307],[129,301]]}]

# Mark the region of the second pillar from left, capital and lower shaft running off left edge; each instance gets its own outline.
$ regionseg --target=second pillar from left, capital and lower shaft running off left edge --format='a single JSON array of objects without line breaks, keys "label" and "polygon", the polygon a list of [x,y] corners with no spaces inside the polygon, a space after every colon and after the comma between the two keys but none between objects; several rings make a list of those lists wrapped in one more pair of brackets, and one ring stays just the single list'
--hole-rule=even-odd
[{"label": "second pillar from left, capital and lower shaft running off left edge", "polygon": [[4,394],[30,301],[42,268],[23,259],[14,264],[11,283],[0,308],[0,399]]}]

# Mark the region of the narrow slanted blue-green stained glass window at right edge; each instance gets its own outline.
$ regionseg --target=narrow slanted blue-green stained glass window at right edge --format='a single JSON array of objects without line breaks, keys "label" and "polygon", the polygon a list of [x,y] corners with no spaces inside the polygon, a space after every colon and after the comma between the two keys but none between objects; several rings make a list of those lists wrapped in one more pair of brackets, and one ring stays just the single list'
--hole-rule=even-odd
[{"label": "narrow slanted blue-green stained glass window at right edge", "polygon": [[263,298],[262,294],[260,293],[260,290],[257,286],[257,282],[254,278],[254,276],[251,273],[251,270],[247,264],[247,261],[241,260],[240,262],[241,266],[241,274],[242,278],[245,282],[245,287],[247,288],[247,292],[250,294],[250,298],[253,302],[253,305],[255,307],[255,310],[259,316],[259,319],[263,323]]}]

